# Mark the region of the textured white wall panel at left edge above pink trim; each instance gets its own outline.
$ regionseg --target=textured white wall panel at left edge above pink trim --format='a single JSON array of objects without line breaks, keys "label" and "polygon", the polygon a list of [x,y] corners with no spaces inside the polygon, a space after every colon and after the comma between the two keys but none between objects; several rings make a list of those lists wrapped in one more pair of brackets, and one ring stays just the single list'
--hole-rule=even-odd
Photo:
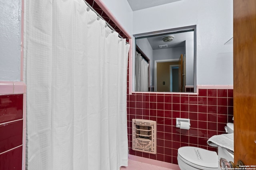
[{"label": "textured white wall panel at left edge above pink trim", "polygon": [[20,81],[21,0],[0,1],[0,80]]}]

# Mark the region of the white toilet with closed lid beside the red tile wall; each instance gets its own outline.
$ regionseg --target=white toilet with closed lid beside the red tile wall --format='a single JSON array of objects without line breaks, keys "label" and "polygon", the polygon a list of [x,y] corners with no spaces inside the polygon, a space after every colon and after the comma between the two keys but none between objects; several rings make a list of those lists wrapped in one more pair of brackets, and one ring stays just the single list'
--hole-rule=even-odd
[{"label": "white toilet with closed lid beside the red tile wall", "polygon": [[[230,124],[227,124],[227,126],[230,128]],[[181,147],[178,149],[178,165],[180,170],[218,170],[220,169],[219,158],[227,157],[227,154],[220,154],[229,152],[225,148],[218,147],[218,153],[219,155],[214,151],[197,147]],[[234,161],[234,154],[228,155],[229,161]]]}]

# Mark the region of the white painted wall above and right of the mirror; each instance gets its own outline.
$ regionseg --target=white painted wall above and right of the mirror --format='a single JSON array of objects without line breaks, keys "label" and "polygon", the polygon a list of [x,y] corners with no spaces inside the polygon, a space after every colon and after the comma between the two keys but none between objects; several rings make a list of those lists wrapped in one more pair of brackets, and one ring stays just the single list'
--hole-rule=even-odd
[{"label": "white painted wall above and right of the mirror", "polygon": [[196,84],[233,85],[232,0],[181,0],[133,13],[133,35],[196,25]]}]

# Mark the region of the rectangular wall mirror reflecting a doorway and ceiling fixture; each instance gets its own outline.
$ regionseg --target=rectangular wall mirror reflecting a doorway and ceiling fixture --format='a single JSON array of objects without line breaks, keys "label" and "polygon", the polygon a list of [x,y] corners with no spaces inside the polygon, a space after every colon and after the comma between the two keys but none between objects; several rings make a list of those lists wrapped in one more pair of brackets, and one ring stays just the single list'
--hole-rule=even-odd
[{"label": "rectangular wall mirror reflecting a doorway and ceiling fixture", "polygon": [[195,92],[195,25],[134,37],[134,91]]}]

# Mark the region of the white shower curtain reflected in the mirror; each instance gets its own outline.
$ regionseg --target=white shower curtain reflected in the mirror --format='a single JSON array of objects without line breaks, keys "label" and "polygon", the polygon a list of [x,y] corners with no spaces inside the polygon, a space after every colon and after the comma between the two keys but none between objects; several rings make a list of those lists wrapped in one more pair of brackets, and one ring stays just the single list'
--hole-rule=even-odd
[{"label": "white shower curtain reflected in the mirror", "polygon": [[135,91],[148,92],[148,63],[140,53],[135,55]]}]

